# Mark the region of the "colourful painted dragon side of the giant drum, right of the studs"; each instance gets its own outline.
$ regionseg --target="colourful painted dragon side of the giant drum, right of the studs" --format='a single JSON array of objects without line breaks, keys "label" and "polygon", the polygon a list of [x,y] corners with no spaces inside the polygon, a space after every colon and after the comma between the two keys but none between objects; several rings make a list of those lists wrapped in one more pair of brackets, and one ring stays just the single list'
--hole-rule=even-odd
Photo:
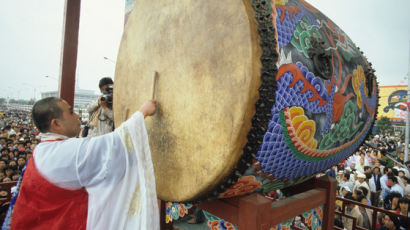
[{"label": "colourful painted dragon side of the giant drum, right of the studs", "polygon": [[352,154],[375,120],[374,70],[343,31],[303,0],[275,1],[272,17],[280,53],[272,117],[252,166],[219,197],[304,181]]}]

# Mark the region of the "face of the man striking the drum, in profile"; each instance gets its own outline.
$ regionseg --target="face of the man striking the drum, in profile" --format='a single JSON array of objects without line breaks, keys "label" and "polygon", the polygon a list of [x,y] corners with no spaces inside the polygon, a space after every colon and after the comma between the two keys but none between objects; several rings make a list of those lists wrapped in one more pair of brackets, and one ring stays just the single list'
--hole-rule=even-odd
[{"label": "face of the man striking the drum, in profile", "polygon": [[61,121],[63,130],[61,134],[67,137],[76,137],[81,130],[81,121],[78,115],[73,111],[73,108],[65,101],[57,102],[58,107],[63,111],[61,118],[57,118]]}]

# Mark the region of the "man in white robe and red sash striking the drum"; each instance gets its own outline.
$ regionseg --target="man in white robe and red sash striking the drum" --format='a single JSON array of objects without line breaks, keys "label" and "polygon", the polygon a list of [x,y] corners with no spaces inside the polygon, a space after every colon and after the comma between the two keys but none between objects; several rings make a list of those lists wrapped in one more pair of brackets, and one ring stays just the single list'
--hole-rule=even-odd
[{"label": "man in white robe and red sash striking the drum", "polygon": [[155,101],[114,132],[75,138],[80,121],[59,98],[33,106],[42,142],[27,164],[3,228],[159,229],[154,170],[144,117]]}]

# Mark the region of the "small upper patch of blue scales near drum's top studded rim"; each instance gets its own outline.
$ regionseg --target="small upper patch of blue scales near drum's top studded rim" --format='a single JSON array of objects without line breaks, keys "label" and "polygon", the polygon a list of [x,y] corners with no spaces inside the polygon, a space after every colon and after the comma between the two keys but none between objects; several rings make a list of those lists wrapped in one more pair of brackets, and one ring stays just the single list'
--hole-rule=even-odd
[{"label": "small upper patch of blue scales near drum's top studded rim", "polygon": [[302,19],[302,13],[299,12],[296,15],[293,15],[292,19],[290,19],[289,12],[285,10],[285,19],[283,20],[283,22],[281,22],[280,18],[283,12],[279,8],[276,8],[276,12],[276,30],[278,32],[278,43],[279,48],[282,48],[289,44],[289,42],[292,40],[293,31],[299,24],[299,21]]}]

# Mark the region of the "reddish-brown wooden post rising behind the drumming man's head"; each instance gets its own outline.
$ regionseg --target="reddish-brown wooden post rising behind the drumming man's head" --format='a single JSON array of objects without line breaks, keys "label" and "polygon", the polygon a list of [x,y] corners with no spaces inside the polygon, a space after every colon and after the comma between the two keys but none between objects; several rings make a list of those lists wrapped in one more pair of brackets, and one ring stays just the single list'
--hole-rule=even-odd
[{"label": "reddish-brown wooden post rising behind the drumming man's head", "polygon": [[81,0],[66,0],[58,96],[74,105]]}]

